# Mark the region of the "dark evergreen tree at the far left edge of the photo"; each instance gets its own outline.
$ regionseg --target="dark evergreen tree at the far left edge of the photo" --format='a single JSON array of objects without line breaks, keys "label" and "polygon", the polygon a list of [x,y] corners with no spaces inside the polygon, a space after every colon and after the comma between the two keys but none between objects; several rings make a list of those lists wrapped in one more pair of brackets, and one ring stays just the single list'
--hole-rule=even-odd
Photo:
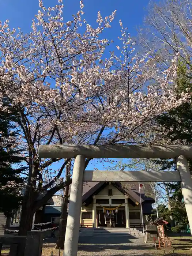
[{"label": "dark evergreen tree at the far left edge of the photo", "polygon": [[[0,111],[0,212],[10,215],[19,207],[20,194],[25,178],[20,177],[26,167],[20,165],[18,134],[13,125],[14,117]],[[16,148],[17,146],[17,148]]]}]

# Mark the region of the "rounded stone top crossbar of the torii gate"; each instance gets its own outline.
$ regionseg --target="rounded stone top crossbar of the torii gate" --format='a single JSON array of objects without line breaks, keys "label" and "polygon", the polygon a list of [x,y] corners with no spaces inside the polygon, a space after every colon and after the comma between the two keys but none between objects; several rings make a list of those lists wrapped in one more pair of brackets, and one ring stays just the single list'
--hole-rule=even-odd
[{"label": "rounded stone top crossbar of the torii gate", "polygon": [[192,158],[192,145],[40,145],[39,158]]}]

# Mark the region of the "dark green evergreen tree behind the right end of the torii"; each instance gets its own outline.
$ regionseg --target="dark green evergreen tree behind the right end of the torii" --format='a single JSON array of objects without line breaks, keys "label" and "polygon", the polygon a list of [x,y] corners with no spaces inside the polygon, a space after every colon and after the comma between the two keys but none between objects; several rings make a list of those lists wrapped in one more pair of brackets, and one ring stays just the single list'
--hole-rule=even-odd
[{"label": "dark green evergreen tree behind the right end of the torii", "polygon": [[[184,60],[178,60],[177,70],[177,95],[187,91],[192,92],[192,66]],[[192,144],[192,101],[182,104],[178,108],[170,110],[168,113],[157,117],[159,129],[157,133],[162,134],[162,138],[167,144]],[[161,165],[162,170],[176,169],[175,159],[172,161],[155,160]],[[192,172],[192,161],[188,160],[190,171]]]}]

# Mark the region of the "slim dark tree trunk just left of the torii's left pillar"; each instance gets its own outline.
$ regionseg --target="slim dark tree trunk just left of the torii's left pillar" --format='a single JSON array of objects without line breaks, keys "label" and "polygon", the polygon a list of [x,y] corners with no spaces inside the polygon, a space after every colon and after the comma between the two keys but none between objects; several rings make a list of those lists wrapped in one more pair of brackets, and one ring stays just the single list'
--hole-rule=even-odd
[{"label": "slim dark tree trunk just left of the torii's left pillar", "polygon": [[[66,178],[67,180],[70,179],[70,169],[71,164],[67,165],[66,167]],[[68,206],[68,197],[69,197],[69,185],[64,188],[64,197],[63,197],[63,204],[61,209],[61,217],[60,217],[60,224],[59,224],[59,237],[57,239],[55,248],[64,249],[64,241],[65,241],[65,231],[67,226],[67,206]]]}]

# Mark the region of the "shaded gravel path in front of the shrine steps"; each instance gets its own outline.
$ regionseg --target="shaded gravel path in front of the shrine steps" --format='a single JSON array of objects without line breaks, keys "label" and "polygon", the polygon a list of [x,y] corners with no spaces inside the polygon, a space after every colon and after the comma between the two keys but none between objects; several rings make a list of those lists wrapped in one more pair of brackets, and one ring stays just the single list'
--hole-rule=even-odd
[{"label": "shaded gravel path in front of the shrine steps", "polygon": [[[78,256],[153,256],[155,250],[143,244],[140,239],[122,239],[122,237],[84,237],[79,244]],[[86,242],[86,240],[89,240]],[[90,241],[92,240],[92,241]],[[81,242],[81,241],[80,241]]]}]

